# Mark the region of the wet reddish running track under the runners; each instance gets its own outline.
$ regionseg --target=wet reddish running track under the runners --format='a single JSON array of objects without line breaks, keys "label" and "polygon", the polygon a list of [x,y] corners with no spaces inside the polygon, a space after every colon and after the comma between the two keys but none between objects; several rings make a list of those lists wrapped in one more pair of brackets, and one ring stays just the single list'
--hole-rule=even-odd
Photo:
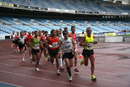
[{"label": "wet reddish running track under the runners", "polygon": [[[56,67],[40,61],[40,71],[34,71],[35,64],[30,64],[28,54],[25,62],[22,55],[14,53],[10,47],[11,41],[0,42],[0,81],[23,87],[130,87],[130,44],[129,43],[99,43],[95,45],[95,76],[97,82],[92,82],[90,63],[88,67],[80,66],[72,71],[73,81],[68,81],[66,69],[60,76],[56,75]],[[82,48],[78,48],[78,53]]]}]

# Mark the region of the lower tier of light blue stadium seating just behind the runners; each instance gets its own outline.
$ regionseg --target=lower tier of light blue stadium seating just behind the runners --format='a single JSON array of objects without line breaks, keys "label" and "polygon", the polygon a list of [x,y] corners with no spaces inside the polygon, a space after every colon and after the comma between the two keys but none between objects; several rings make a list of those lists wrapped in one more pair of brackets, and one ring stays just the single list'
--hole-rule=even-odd
[{"label": "lower tier of light blue stadium seating just behind the runners", "polygon": [[119,32],[121,30],[130,30],[130,22],[128,21],[96,21],[96,20],[59,20],[59,19],[31,19],[31,18],[0,18],[0,33],[11,34],[12,31],[20,32],[21,30],[35,31],[45,30],[50,32],[52,29],[63,30],[68,27],[71,31],[71,26],[76,26],[76,33],[86,31],[87,27],[93,29],[93,33],[101,32]]}]

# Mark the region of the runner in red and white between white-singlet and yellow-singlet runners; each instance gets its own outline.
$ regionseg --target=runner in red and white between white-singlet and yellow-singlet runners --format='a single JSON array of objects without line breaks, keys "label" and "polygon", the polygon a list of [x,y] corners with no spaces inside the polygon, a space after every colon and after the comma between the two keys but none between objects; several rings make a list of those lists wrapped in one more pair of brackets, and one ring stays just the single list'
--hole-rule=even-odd
[{"label": "runner in red and white between white-singlet and yellow-singlet runners", "polygon": [[75,42],[75,52],[74,52],[74,71],[75,72],[79,72],[78,68],[77,68],[77,35],[75,33],[75,26],[71,26],[71,33],[69,34],[69,36],[74,40]]}]

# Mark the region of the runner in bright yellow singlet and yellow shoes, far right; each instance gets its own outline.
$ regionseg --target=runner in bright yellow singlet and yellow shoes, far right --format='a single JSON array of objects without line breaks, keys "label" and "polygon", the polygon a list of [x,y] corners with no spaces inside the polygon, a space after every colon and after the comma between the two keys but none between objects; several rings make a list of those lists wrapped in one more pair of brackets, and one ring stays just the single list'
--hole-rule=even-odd
[{"label": "runner in bright yellow singlet and yellow shoes, far right", "polygon": [[81,65],[84,63],[85,66],[88,66],[88,59],[91,62],[91,79],[92,81],[96,81],[96,77],[94,76],[94,69],[95,69],[95,57],[94,57],[94,44],[97,44],[97,41],[94,41],[94,36],[92,33],[91,28],[86,29],[86,35],[82,38],[80,42],[80,46],[83,46],[83,53],[84,59],[81,61]]}]

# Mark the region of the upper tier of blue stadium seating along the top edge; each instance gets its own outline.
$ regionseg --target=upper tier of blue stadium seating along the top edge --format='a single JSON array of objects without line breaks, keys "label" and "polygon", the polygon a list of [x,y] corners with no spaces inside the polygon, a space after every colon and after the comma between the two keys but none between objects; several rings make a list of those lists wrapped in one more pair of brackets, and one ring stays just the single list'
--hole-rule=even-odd
[{"label": "upper tier of blue stadium seating along the top edge", "polygon": [[0,0],[0,2],[18,5],[35,6],[41,8],[68,9],[94,12],[130,13],[130,6],[101,5],[96,3],[102,0]]}]

